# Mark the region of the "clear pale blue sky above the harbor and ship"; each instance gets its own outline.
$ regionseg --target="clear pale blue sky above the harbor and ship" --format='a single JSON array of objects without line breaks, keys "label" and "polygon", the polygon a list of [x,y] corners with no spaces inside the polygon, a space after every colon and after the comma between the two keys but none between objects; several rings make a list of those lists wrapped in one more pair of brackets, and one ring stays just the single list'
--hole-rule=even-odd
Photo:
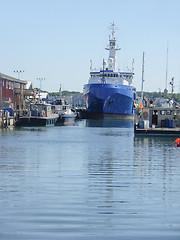
[{"label": "clear pale blue sky above the harbor and ship", "polygon": [[[83,91],[90,60],[100,68],[107,59],[111,22],[115,22],[118,66],[131,68],[134,86],[141,88],[145,52],[144,90],[165,88],[166,52],[168,83],[180,83],[179,0],[0,0],[0,72],[42,89]],[[169,84],[168,84],[169,87]],[[170,89],[169,89],[170,90]]]}]

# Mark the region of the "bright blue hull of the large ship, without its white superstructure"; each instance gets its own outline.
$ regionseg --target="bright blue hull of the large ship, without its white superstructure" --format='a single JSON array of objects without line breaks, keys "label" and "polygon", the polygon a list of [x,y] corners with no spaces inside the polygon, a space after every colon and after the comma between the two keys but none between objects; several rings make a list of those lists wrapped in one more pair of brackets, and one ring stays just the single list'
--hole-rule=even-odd
[{"label": "bright blue hull of the large ship, without its white superstructure", "polygon": [[134,115],[136,90],[127,85],[86,84],[84,99],[89,115],[131,117]]}]

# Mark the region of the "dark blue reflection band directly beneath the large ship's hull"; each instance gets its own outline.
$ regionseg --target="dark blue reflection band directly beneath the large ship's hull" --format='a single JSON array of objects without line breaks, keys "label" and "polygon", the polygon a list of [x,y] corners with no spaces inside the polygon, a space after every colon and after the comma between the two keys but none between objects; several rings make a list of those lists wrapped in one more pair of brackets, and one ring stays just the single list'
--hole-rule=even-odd
[{"label": "dark blue reflection band directly beneath the large ship's hull", "polygon": [[133,120],[122,119],[86,119],[86,127],[132,128]]}]

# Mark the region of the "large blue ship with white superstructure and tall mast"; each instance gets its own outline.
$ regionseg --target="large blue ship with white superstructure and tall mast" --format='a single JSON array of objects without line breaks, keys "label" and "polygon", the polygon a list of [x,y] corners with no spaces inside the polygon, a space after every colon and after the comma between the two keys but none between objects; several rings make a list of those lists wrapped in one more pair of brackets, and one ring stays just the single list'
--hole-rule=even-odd
[{"label": "large blue ship with white superstructure and tall mast", "polygon": [[[83,95],[86,112],[89,115],[125,116],[133,117],[136,89],[132,86],[132,71],[121,72],[116,70],[115,25],[111,24],[112,35],[109,39],[109,58],[103,60],[103,69],[100,71],[90,67],[88,84],[84,85]],[[133,68],[133,67],[132,67]]]}]

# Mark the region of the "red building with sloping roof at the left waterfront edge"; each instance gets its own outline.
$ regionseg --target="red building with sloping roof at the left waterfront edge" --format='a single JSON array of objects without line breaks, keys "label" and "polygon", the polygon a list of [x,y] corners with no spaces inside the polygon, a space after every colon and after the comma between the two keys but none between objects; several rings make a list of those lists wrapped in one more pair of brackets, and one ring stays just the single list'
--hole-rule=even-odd
[{"label": "red building with sloping roof at the left waterfront edge", "polygon": [[24,106],[23,89],[26,81],[0,73],[0,108],[12,107],[14,110]]}]

